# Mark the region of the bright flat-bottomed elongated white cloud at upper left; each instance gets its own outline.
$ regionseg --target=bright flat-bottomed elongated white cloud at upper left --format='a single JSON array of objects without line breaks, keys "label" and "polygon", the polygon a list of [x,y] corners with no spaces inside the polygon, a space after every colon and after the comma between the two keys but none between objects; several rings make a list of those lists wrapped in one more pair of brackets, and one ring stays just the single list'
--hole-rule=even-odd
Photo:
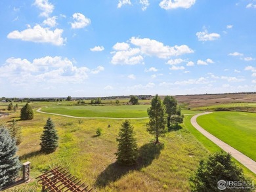
[{"label": "bright flat-bottomed elongated white cloud at upper left", "polygon": [[62,38],[63,29],[42,28],[39,25],[24,31],[12,31],[7,35],[9,39],[21,39],[22,41],[32,41],[35,43],[52,43],[53,45],[64,45],[66,39]]}]

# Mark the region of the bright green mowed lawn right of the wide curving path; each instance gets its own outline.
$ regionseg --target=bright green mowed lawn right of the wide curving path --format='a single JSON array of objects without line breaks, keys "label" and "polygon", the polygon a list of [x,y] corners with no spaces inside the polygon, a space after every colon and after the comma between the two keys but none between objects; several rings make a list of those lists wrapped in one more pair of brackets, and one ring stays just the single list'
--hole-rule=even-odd
[{"label": "bright green mowed lawn right of the wide curving path", "polygon": [[214,112],[197,119],[205,130],[256,161],[256,114]]}]

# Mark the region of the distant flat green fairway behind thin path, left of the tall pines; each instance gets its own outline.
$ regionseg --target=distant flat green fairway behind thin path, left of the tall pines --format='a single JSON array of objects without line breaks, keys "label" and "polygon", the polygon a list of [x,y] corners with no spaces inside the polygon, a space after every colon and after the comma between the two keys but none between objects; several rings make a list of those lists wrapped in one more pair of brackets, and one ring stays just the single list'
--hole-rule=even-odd
[{"label": "distant flat green fairway behind thin path, left of the tall pines", "polygon": [[75,117],[148,117],[147,109],[150,105],[137,106],[48,106],[41,111],[72,115]]}]

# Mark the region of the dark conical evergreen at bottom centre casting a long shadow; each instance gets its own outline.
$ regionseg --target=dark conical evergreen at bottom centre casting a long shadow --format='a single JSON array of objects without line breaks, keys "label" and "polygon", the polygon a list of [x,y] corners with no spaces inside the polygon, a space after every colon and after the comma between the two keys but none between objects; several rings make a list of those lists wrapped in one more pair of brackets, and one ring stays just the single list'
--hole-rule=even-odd
[{"label": "dark conical evergreen at bottom centre casting a long shadow", "polygon": [[128,120],[121,124],[119,137],[116,140],[118,142],[117,153],[115,153],[117,155],[117,163],[125,165],[135,164],[138,157],[138,147],[133,126]]}]

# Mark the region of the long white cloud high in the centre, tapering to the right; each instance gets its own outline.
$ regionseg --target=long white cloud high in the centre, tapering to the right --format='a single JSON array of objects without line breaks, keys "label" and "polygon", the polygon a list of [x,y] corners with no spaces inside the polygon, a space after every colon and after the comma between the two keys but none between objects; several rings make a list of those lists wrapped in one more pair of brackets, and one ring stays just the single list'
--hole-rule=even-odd
[{"label": "long white cloud high in the centre, tapering to the right", "polygon": [[169,58],[171,56],[179,56],[181,54],[194,52],[194,50],[187,45],[175,45],[174,47],[169,47],[154,39],[131,37],[130,41],[133,45],[140,47],[143,54],[157,56],[158,58]]}]

